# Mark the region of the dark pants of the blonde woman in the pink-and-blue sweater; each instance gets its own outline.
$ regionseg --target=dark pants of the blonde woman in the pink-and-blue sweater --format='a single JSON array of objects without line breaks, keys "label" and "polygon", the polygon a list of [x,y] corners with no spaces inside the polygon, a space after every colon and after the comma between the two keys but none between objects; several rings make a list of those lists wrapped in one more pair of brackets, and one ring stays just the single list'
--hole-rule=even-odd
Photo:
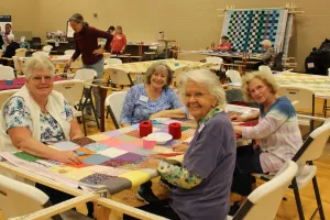
[{"label": "dark pants of the blonde woman in the pink-and-blue sweater", "polygon": [[263,174],[260,163],[260,153],[253,151],[253,146],[241,146],[237,151],[237,163],[233,174],[231,190],[241,196],[249,196],[255,177],[252,173]]}]

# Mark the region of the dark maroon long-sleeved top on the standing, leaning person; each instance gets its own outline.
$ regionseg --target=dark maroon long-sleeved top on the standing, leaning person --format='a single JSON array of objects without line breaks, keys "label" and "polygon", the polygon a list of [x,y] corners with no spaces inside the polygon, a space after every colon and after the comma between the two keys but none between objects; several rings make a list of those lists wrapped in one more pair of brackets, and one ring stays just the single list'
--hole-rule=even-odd
[{"label": "dark maroon long-sleeved top on the standing, leaning person", "polygon": [[107,38],[105,50],[110,50],[110,42],[112,41],[112,35],[97,30],[91,26],[84,26],[78,33],[74,33],[74,40],[76,44],[76,52],[73,55],[73,59],[76,61],[80,54],[82,57],[82,63],[86,65],[92,65],[103,58],[103,55],[95,55],[92,52],[99,48],[98,38]]}]

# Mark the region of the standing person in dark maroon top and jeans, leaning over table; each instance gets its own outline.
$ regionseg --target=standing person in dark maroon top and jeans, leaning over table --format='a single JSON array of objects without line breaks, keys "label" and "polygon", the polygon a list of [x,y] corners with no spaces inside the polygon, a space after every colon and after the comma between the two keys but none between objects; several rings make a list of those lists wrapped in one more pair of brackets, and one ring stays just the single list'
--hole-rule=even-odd
[{"label": "standing person in dark maroon top and jeans, leaning over table", "polygon": [[[97,72],[97,79],[103,78],[103,53],[109,51],[110,42],[113,36],[107,32],[97,30],[89,25],[85,25],[84,18],[79,13],[75,13],[69,18],[70,25],[74,33],[74,40],[76,44],[76,52],[73,57],[67,62],[67,66],[70,66],[72,62],[76,61],[80,54],[82,58],[84,68],[94,69]],[[107,38],[105,48],[99,48],[98,38]],[[96,81],[101,84],[101,81]],[[100,95],[98,89],[94,89],[94,96],[96,101],[97,117],[100,118]],[[91,116],[91,109],[88,106],[86,108],[88,114]],[[90,122],[88,125],[96,125],[96,122]]]}]

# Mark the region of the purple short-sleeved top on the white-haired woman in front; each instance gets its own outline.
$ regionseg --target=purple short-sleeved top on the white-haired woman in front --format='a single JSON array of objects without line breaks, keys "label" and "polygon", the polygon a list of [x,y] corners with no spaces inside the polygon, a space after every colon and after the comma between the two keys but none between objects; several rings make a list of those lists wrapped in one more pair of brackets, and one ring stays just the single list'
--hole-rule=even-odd
[{"label": "purple short-sleeved top on the white-haired woman in front", "polygon": [[198,125],[183,166],[202,182],[193,189],[172,189],[169,205],[180,219],[227,219],[235,156],[235,135],[227,113]]}]

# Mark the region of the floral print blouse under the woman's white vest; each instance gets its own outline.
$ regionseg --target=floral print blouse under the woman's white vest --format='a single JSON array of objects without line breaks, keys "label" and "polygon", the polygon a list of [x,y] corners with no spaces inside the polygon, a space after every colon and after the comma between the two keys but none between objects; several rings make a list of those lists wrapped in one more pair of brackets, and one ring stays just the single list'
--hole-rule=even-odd
[{"label": "floral print blouse under the woman's white vest", "polygon": [[[64,101],[66,120],[70,122],[74,119],[72,107]],[[3,107],[4,121],[7,130],[11,128],[23,127],[33,131],[31,109],[25,105],[22,97],[11,98]],[[50,113],[40,113],[41,142],[52,144],[65,141],[64,132],[59,123]]]}]

